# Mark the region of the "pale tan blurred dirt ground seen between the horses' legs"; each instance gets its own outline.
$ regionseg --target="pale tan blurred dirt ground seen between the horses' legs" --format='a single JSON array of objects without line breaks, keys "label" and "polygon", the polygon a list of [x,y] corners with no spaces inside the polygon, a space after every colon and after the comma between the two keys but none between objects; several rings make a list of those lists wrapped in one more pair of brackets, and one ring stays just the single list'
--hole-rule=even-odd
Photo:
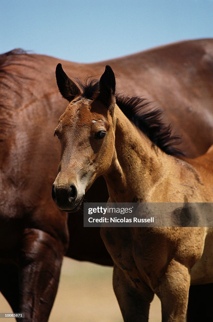
[{"label": "pale tan blurred dirt ground seen between the horses' legs", "polygon": [[[0,295],[0,312],[12,313]],[[0,320],[3,320],[3,318]],[[64,258],[60,285],[49,322],[122,322],[112,289],[112,268]],[[161,321],[161,307],[154,298],[149,322]],[[15,322],[7,318],[5,322]]]}]

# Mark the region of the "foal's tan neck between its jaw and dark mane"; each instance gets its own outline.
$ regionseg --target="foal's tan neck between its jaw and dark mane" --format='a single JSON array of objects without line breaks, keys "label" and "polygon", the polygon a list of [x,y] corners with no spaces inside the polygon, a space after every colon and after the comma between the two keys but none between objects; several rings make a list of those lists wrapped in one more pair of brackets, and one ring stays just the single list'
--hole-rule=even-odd
[{"label": "foal's tan neck between its jaw and dark mane", "polygon": [[[156,183],[166,174],[168,159],[116,106],[115,151],[104,175],[111,202],[150,201]],[[166,160],[165,160],[166,159]]]}]

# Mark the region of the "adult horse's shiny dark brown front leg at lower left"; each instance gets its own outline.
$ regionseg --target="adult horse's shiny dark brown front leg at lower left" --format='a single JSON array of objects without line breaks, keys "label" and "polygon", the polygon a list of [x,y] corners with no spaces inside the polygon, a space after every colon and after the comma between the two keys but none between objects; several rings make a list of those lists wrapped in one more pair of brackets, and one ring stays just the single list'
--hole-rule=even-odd
[{"label": "adult horse's shiny dark brown front leg at lower left", "polygon": [[[39,229],[27,228],[20,255],[20,308],[25,321],[48,320],[57,292],[64,244]],[[20,319],[21,321],[21,319]]]}]

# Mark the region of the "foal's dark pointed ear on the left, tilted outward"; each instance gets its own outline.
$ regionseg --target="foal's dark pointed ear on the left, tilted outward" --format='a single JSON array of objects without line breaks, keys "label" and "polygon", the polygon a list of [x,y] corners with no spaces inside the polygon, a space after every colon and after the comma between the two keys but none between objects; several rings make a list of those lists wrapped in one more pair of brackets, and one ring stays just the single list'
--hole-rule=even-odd
[{"label": "foal's dark pointed ear on the left, tilted outward", "polygon": [[65,99],[71,102],[76,96],[80,95],[78,86],[69,79],[61,64],[56,66],[55,75],[60,93]]}]

